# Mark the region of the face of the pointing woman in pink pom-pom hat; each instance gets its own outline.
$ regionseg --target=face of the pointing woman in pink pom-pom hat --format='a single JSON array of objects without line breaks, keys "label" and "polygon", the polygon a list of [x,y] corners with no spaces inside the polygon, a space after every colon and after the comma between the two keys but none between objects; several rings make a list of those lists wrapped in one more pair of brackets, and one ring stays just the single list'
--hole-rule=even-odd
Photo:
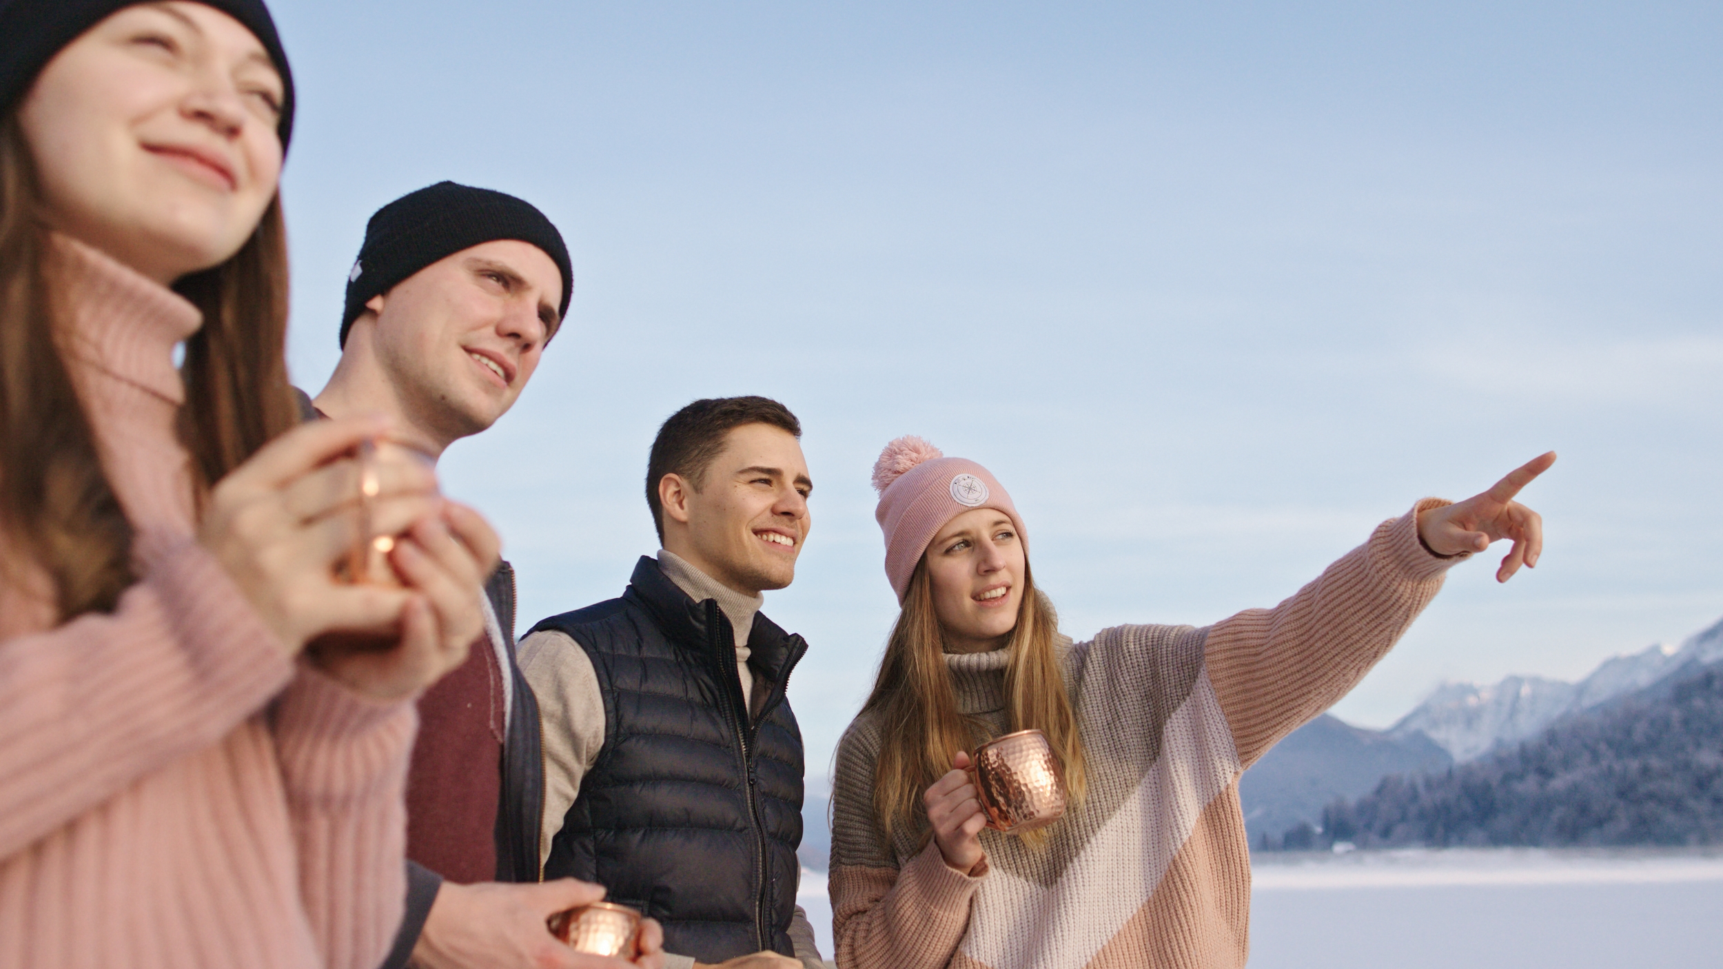
[{"label": "face of the pointing woman in pink pom-pom hat", "polygon": [[1017,526],[994,509],[967,510],[934,535],[927,578],[949,652],[989,652],[1010,641],[1027,562]]}]

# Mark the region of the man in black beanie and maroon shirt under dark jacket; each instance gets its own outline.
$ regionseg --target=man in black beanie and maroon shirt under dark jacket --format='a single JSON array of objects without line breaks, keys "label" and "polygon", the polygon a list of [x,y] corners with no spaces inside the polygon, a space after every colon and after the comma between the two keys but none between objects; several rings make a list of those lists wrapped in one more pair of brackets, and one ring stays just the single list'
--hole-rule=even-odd
[{"label": "man in black beanie and maroon shirt under dark jacket", "polygon": [[[384,412],[432,460],[501,417],[569,310],[562,233],[501,191],[445,181],[370,217],[348,272],[322,416]],[[477,591],[477,590],[474,590]],[[407,781],[407,919],[386,966],[598,969],[544,928],[601,888],[539,881],[539,714],[515,662],[513,569],[486,583],[486,638],[419,700]],[[524,885],[512,885],[524,883]],[[648,933],[658,966],[658,928]]]}]

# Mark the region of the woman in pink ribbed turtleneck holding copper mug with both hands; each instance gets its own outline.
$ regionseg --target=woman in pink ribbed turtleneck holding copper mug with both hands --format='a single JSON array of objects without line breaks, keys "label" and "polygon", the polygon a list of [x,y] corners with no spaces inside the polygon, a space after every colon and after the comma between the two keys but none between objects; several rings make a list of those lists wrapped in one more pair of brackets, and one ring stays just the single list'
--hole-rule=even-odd
[{"label": "woman in pink ribbed turtleneck holding copper mug with both hands", "polygon": [[401,586],[331,578],[388,426],[289,431],[291,116],[260,0],[0,0],[0,967],[372,969],[400,921],[410,697],[496,538],[384,460]]}]

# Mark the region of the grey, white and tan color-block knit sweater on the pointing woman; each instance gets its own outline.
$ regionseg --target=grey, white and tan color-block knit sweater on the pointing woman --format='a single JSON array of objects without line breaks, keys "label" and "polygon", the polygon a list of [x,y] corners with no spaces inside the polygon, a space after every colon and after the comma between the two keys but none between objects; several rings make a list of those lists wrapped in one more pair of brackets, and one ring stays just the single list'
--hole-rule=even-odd
[{"label": "grey, white and tan color-block knit sweater on the pointing woman", "polygon": [[[887,843],[872,807],[884,724],[837,747],[832,919],[843,969],[1234,967],[1249,948],[1239,776],[1346,695],[1442,585],[1418,541],[1425,500],[1275,609],[1215,626],[1118,626],[1063,647],[1087,755],[1084,802],[1041,850],[982,831],[984,874],[930,840]],[[1068,640],[1065,640],[1068,643]],[[1005,650],[948,655],[960,707],[994,735]]]}]

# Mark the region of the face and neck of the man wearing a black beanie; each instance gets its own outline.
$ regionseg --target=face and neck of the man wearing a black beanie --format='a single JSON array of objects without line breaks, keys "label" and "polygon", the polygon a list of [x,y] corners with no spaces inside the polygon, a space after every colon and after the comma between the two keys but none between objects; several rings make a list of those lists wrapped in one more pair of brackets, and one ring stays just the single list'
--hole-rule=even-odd
[{"label": "face and neck of the man wearing a black beanie", "polygon": [[441,453],[513,407],[557,331],[560,302],[562,271],[544,250],[481,243],[372,297],[341,364],[365,360],[393,391],[393,409]]}]

